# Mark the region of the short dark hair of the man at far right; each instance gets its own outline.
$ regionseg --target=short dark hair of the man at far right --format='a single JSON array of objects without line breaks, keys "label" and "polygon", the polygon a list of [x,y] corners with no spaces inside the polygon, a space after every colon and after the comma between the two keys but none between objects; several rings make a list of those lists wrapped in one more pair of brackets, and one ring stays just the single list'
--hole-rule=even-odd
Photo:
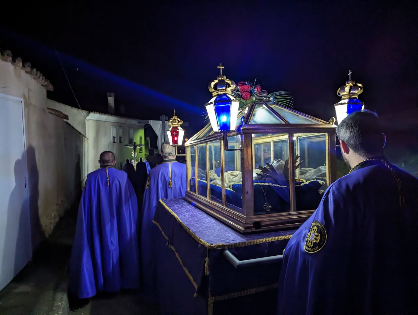
[{"label": "short dark hair of the man at far right", "polygon": [[379,116],[370,110],[348,115],[337,127],[337,136],[359,155],[382,153],[382,127]]}]

